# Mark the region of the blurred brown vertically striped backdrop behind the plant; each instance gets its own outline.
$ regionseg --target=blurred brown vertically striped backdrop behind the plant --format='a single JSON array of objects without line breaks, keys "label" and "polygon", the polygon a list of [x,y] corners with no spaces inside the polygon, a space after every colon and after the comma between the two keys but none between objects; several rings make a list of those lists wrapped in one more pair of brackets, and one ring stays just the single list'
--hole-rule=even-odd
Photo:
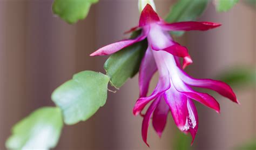
[{"label": "blurred brown vertically striped backdrop behind the plant", "polygon": [[[156,1],[161,17],[172,3]],[[0,149],[5,149],[12,125],[38,107],[54,105],[51,92],[72,74],[83,70],[105,73],[107,57],[89,54],[129,37],[123,32],[137,25],[139,19],[136,0],[101,0],[75,25],[53,16],[51,4],[50,0],[0,0]],[[223,25],[177,38],[193,58],[194,63],[186,70],[192,77],[217,79],[232,69],[255,73],[256,14],[252,6],[241,1],[226,13],[217,13],[211,3],[199,21]],[[156,81],[154,77],[151,89]],[[233,149],[256,139],[255,82],[241,81],[232,87],[241,105],[215,93],[220,114],[197,105],[200,123],[193,149]],[[64,126],[55,149],[149,149],[140,135],[142,118],[132,114],[138,91],[137,75],[117,93],[109,92],[106,105],[92,118]],[[150,126],[150,149],[175,149],[177,136],[169,114],[161,139]]]}]

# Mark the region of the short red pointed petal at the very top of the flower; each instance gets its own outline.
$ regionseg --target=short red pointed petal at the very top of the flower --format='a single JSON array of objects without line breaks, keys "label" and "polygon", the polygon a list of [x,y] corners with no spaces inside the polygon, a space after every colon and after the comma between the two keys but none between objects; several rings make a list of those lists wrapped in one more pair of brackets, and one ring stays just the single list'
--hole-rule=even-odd
[{"label": "short red pointed petal at the very top of the flower", "polygon": [[153,10],[150,4],[147,4],[145,8],[142,10],[142,13],[140,15],[139,26],[145,26],[145,25],[149,25],[150,23],[159,22],[159,21],[160,19],[156,11]]}]

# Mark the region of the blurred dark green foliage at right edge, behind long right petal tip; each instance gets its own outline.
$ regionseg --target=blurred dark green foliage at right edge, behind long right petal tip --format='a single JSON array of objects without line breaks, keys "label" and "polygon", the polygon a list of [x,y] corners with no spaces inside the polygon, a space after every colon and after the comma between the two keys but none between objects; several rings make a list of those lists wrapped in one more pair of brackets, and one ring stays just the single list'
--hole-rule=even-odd
[{"label": "blurred dark green foliage at right edge, behind long right petal tip", "polygon": [[255,85],[256,70],[237,67],[221,73],[218,79],[231,86]]}]

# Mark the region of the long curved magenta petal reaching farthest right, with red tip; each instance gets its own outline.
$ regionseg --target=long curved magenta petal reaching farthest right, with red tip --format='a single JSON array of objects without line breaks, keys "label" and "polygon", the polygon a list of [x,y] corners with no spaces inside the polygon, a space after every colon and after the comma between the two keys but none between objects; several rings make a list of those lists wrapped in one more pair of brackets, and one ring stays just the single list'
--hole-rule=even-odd
[{"label": "long curved magenta petal reaching farthest right, with red tip", "polygon": [[188,85],[208,88],[216,91],[221,96],[224,96],[235,103],[239,103],[232,88],[224,83],[223,81],[212,80],[212,79],[195,79],[186,74],[183,70],[179,70],[180,78]]}]

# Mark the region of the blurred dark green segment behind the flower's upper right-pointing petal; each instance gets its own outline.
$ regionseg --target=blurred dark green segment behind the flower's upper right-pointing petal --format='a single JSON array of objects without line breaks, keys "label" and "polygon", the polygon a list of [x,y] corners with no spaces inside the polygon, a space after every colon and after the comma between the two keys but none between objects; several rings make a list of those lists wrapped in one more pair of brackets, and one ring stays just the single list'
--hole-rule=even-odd
[{"label": "blurred dark green segment behind the flower's upper right-pointing petal", "polygon": [[[225,0],[224,0],[225,1]],[[167,22],[196,21],[207,8],[209,0],[179,0],[175,3],[165,18]],[[183,31],[171,32],[173,35],[182,36]]]}]

